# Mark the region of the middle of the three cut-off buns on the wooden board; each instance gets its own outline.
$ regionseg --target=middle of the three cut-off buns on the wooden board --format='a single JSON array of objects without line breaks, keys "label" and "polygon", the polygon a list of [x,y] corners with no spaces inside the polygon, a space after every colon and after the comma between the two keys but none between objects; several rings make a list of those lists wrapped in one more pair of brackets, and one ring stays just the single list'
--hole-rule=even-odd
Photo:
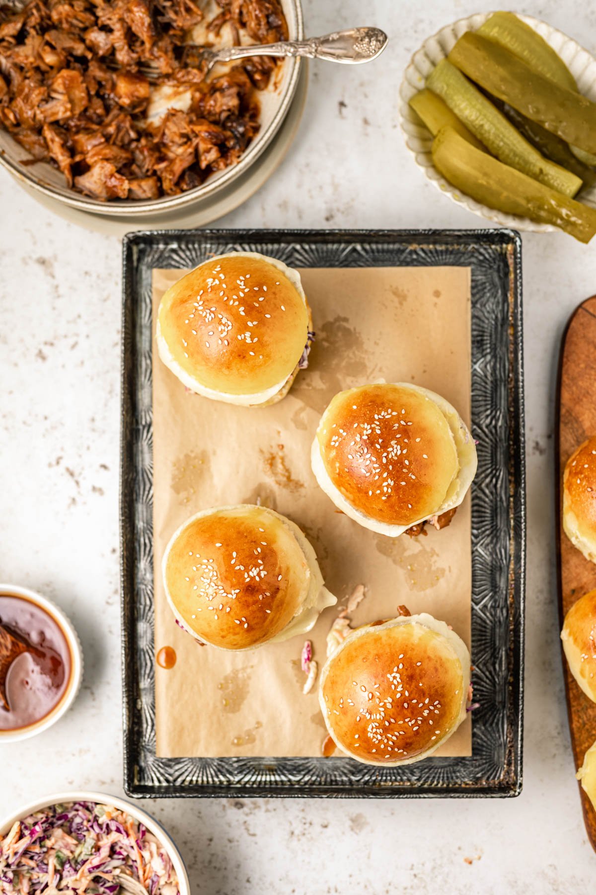
[{"label": "middle of the three cut-off buns on the wooden board", "polygon": [[584,593],[569,609],[561,640],[569,670],[596,703],[596,590]]}]

